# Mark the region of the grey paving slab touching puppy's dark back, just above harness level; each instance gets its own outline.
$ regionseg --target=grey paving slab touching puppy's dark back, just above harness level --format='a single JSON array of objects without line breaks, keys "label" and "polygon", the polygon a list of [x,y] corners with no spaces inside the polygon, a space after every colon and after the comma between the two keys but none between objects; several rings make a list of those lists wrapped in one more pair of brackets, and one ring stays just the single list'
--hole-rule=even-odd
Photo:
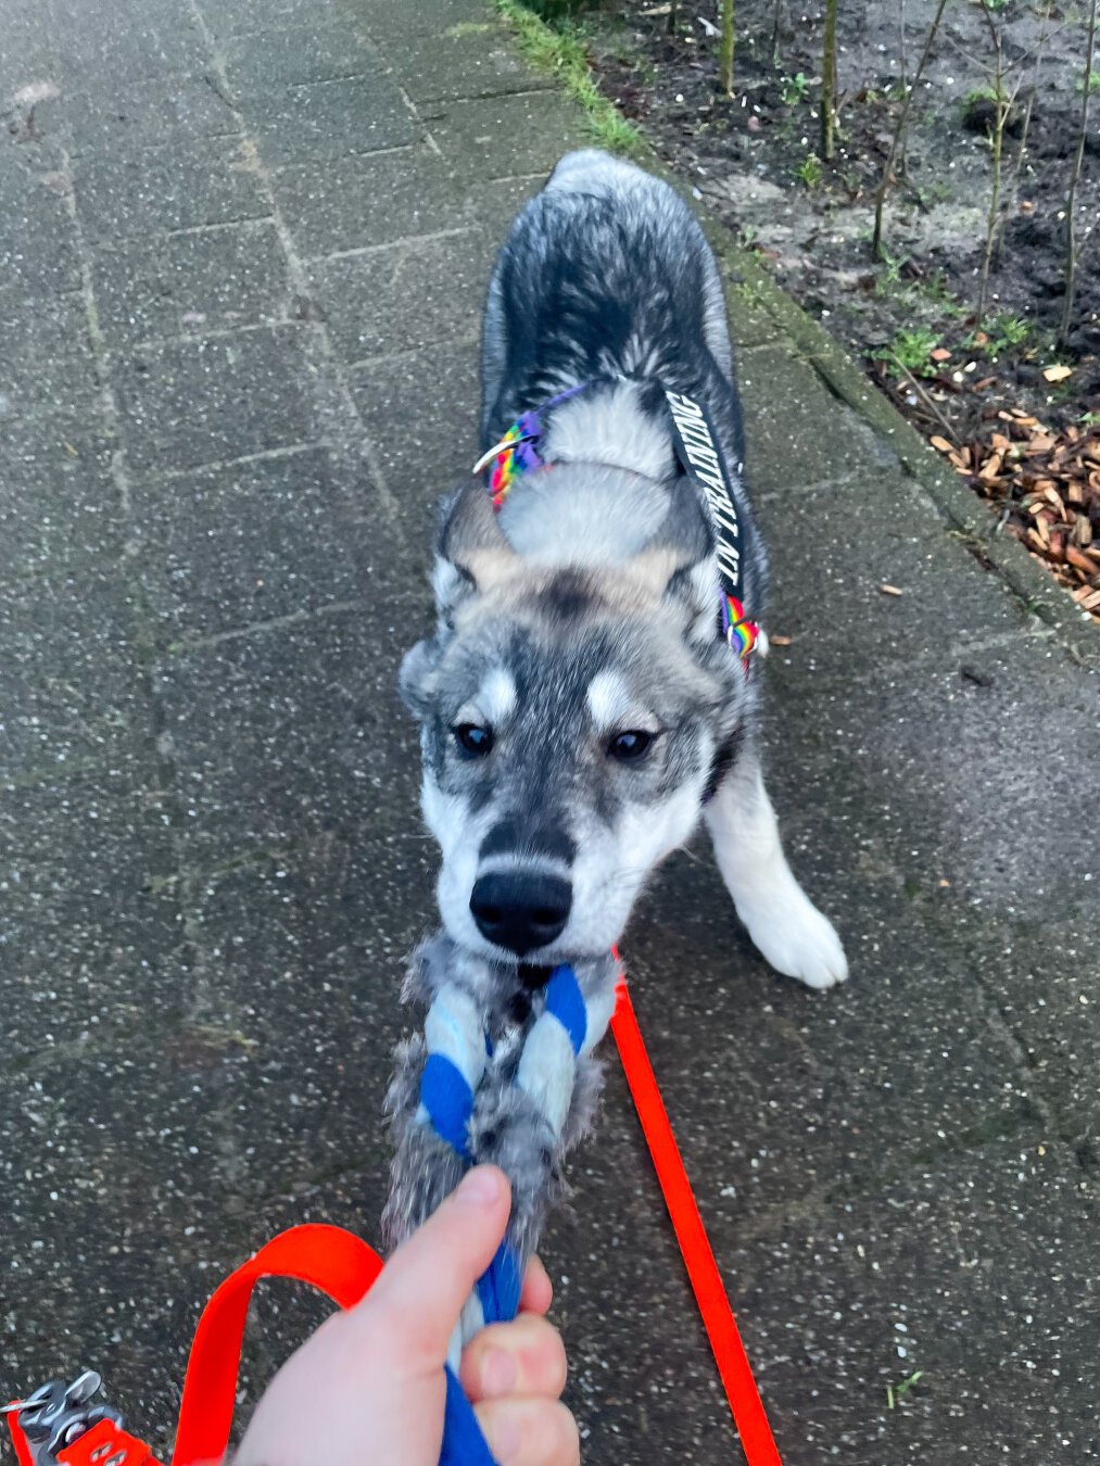
[{"label": "grey paving slab touching puppy's dark back, just above harness level", "polygon": [[406,239],[309,267],[346,362],[446,346],[478,330],[494,249],[478,229]]}]

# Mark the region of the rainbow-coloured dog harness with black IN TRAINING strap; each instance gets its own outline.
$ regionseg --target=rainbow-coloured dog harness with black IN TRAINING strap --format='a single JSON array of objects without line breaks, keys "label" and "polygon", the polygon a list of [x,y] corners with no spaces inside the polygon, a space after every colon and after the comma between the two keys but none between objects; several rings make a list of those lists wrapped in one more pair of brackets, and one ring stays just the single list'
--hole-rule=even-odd
[{"label": "rainbow-coloured dog harness with black IN TRAINING strap", "polygon": [[[500,510],[515,481],[534,469],[553,468],[541,453],[543,418],[550,409],[585,391],[588,383],[559,391],[556,397],[532,408],[512,424],[507,432],[477,460],[474,472],[488,471],[488,493],[493,509]],[[692,479],[707,501],[719,561],[719,636],[738,654],[748,670],[749,652],[760,644],[760,626],[742,604],[741,520],[730,488],[722,449],[719,447],[710,413],[701,402],[682,391],[661,388],[672,415],[672,441],[683,475]]]}]

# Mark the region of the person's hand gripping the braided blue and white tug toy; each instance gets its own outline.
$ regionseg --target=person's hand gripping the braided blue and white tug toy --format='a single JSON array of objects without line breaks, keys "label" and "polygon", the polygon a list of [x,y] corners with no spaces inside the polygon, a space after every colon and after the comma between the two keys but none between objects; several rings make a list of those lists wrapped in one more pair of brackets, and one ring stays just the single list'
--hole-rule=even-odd
[{"label": "person's hand gripping the braided blue and white tug toy", "polygon": [[[503,1171],[469,1171],[362,1303],[329,1318],[283,1365],[235,1466],[437,1466],[447,1346],[505,1234],[509,1202]],[[534,1259],[516,1319],[483,1328],[462,1353],[462,1388],[500,1466],[579,1462],[576,1423],[559,1399],[565,1346],[543,1316],[550,1299]]]}]

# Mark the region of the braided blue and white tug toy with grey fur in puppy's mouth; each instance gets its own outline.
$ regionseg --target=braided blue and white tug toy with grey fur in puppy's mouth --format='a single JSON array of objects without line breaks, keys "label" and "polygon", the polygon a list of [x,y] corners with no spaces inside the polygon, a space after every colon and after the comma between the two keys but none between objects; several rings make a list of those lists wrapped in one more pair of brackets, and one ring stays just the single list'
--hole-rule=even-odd
[{"label": "braided blue and white tug toy with grey fur in puppy's mouth", "polygon": [[615,1009],[610,956],[529,969],[480,962],[446,935],[414,959],[406,998],[428,1003],[422,1038],[399,1050],[389,1108],[397,1142],[384,1230],[414,1231],[463,1171],[493,1161],[512,1182],[507,1234],[466,1300],[449,1352],[441,1463],[488,1466],[491,1456],[458,1384],[463,1344],[515,1318],[524,1268],[563,1189],[562,1161],[588,1129],[598,1092],[593,1050]]}]

